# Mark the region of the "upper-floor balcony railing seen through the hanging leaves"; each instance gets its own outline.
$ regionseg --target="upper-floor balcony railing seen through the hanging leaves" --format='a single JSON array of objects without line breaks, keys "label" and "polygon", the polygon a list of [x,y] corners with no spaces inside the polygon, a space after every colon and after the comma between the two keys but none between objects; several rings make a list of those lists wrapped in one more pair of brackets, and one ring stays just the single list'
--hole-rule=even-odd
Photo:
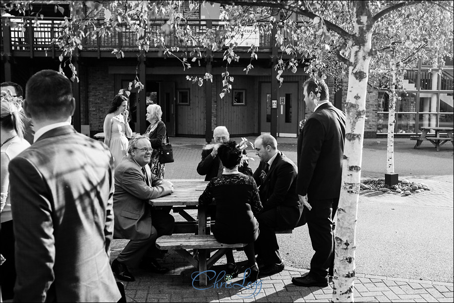
[{"label": "upper-floor balcony railing seen through the hanging leaves", "polygon": [[[4,17],[5,18],[5,17]],[[63,18],[46,18],[44,20],[39,20],[36,24],[34,18],[28,17],[8,17],[11,21],[16,22],[18,28],[5,28],[2,22],[2,53],[10,53],[12,56],[55,56],[56,52],[60,53],[58,45],[51,43],[52,39],[57,38],[59,34],[59,29],[62,26],[64,19]],[[3,18],[2,18],[3,19]],[[150,24],[147,32],[153,32],[156,34],[156,37],[163,37],[161,27],[165,24],[166,20],[156,19],[153,20],[153,23]],[[204,35],[207,31],[207,26],[211,25],[211,28],[216,29],[219,25],[222,24],[222,21],[219,20],[188,20],[187,23],[182,26],[189,26],[194,33],[194,39],[189,43],[186,43],[179,37],[177,29],[172,29],[169,34],[165,36],[166,46],[179,47],[180,50],[191,51],[193,48],[201,47],[200,37]],[[81,56],[105,56],[108,53],[108,56],[112,56],[111,51],[113,49],[121,49],[125,52],[125,56],[136,56],[137,55],[137,34],[129,30],[126,26],[121,27],[121,31],[107,33],[104,36],[92,38],[90,33],[93,32],[93,28],[96,24],[88,26],[85,28],[85,35],[89,36],[82,40],[82,49],[80,50]],[[22,28],[22,29],[21,29]],[[285,41],[285,44],[294,44],[295,41],[287,35],[287,32],[282,30],[282,35]],[[8,41],[4,41],[6,38]],[[272,40],[270,31],[265,31],[258,34],[258,37],[254,37],[256,41],[259,42],[257,52],[271,52]],[[237,40],[240,42],[241,40]],[[247,42],[243,41],[243,44]],[[236,49],[236,52],[243,52],[247,54],[250,46],[243,45],[239,46]],[[159,45],[150,45],[150,51],[147,52],[147,56],[156,56]],[[279,50],[280,51],[280,50]],[[222,51],[220,52],[222,54]],[[250,54],[248,54],[249,56]]]}]

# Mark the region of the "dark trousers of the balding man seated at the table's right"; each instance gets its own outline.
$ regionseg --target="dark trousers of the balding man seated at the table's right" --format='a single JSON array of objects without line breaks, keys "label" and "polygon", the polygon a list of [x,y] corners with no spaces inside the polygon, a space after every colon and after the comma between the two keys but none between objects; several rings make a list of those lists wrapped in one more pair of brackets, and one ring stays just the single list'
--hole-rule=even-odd
[{"label": "dark trousers of the balding man seated at the table's right", "polygon": [[259,222],[259,236],[255,241],[255,252],[265,265],[277,264],[282,260],[275,229],[277,227],[277,209],[273,208],[256,216]]}]

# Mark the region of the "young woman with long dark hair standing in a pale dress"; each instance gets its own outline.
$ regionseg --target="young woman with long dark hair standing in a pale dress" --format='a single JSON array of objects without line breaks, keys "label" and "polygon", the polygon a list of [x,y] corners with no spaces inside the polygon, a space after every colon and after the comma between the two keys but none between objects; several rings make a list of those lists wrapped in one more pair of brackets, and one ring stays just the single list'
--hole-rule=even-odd
[{"label": "young woman with long dark hair standing in a pale dress", "polygon": [[113,97],[104,119],[104,143],[113,156],[113,166],[117,167],[128,154],[128,138],[132,131],[128,124],[128,98],[123,95]]}]

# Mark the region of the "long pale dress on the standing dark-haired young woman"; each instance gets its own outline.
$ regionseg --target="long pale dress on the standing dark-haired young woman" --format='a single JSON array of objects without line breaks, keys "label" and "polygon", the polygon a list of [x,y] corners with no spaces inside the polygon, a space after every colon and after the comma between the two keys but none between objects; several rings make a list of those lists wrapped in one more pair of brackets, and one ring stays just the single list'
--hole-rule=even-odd
[{"label": "long pale dress on the standing dark-haired young woman", "polygon": [[112,118],[109,149],[113,156],[113,167],[117,167],[123,157],[128,154],[128,138],[123,115]]}]

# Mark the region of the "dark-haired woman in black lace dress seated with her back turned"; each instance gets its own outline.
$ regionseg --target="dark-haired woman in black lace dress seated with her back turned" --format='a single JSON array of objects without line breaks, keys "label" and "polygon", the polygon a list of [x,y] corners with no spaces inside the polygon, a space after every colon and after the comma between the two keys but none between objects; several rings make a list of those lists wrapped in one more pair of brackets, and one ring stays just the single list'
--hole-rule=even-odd
[{"label": "dark-haired woman in black lace dress seated with her back turned", "polygon": [[[252,176],[238,171],[242,151],[235,141],[229,141],[219,146],[219,160],[224,167],[220,177],[211,179],[205,191],[199,198],[200,205],[213,201],[216,204],[216,223],[212,226],[214,237],[221,243],[247,243],[244,252],[248,257],[250,274],[247,282],[256,281],[258,266],[255,260],[254,241],[259,234],[259,226],[254,215],[262,209],[257,185]],[[225,254],[227,258],[226,273],[238,275],[232,249]]]}]

